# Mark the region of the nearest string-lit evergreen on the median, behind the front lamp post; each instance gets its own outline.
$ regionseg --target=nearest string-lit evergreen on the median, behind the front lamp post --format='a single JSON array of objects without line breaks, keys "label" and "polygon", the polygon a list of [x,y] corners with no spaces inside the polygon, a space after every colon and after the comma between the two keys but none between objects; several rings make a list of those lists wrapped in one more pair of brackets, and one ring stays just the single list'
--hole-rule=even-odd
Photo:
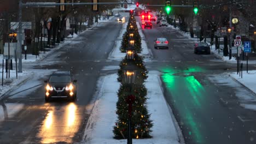
[{"label": "nearest string-lit evergreen on the median, behind the front lamp post", "polygon": [[[115,139],[124,139],[127,136],[127,121],[128,121],[128,105],[126,103],[126,97],[130,94],[130,87],[128,85],[121,85],[118,91],[118,102],[117,102],[117,115],[118,121],[114,126],[114,137]],[[150,138],[150,130],[153,127],[152,121],[149,119],[146,103],[147,89],[144,85],[136,85],[133,89],[132,94],[135,95],[135,103],[132,105],[132,138],[133,139],[146,139]]]}]

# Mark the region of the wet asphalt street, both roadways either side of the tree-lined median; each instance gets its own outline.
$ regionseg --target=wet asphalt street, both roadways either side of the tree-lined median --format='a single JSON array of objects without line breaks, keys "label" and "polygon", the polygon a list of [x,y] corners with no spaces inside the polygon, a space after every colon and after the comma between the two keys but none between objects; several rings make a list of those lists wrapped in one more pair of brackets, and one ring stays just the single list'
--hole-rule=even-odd
[{"label": "wet asphalt street, both roadways either side of the tree-lined median", "polygon": [[[70,70],[78,80],[78,100],[44,103],[42,85],[2,100],[0,143],[80,142],[98,78],[116,73],[101,69],[119,64],[107,57],[120,29],[115,21],[104,23],[38,62],[35,73],[46,76],[37,75],[39,81],[32,78],[26,85],[42,84],[53,70]],[[193,41],[171,28],[153,23],[153,29],[143,29],[143,33],[153,60],[146,66],[161,72],[165,98],[186,143],[255,143],[256,113],[240,106],[255,102],[235,97],[240,93],[253,99],[255,95],[223,74],[236,71],[236,64],[224,63],[214,55],[194,55]],[[154,49],[156,37],[166,37],[170,49]],[[16,109],[20,111],[13,115]]]}]

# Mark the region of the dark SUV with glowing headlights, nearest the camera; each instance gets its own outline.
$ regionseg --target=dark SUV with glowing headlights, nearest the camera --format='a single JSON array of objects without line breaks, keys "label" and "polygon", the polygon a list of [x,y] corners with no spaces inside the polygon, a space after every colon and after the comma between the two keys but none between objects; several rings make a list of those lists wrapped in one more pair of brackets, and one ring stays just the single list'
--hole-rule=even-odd
[{"label": "dark SUV with glowing headlights, nearest the camera", "polygon": [[69,71],[56,71],[44,83],[46,102],[50,98],[68,98],[72,101],[77,98],[77,80],[72,79]]}]

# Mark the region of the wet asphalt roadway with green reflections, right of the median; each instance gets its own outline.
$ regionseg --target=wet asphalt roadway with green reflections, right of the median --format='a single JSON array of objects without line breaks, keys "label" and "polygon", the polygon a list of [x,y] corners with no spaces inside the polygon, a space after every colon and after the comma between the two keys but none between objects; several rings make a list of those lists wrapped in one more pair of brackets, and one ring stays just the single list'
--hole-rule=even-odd
[{"label": "wet asphalt roadway with green reflections, right of the median", "polygon": [[[223,74],[236,71],[236,64],[222,62],[213,54],[195,55],[193,41],[155,22],[153,29],[143,33],[154,57],[147,67],[162,73],[165,98],[185,143],[256,143],[256,113],[240,106],[255,103],[256,97]],[[157,37],[167,38],[169,49],[154,49]]]}]

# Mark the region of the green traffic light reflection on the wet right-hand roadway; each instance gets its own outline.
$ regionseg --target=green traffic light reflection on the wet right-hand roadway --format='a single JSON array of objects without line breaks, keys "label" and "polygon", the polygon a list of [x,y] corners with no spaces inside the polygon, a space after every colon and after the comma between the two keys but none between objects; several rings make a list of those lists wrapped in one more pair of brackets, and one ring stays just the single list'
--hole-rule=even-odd
[{"label": "green traffic light reflection on the wet right-hand roadway", "polygon": [[[192,67],[187,70],[164,68],[162,69],[163,74],[161,76],[167,90],[172,95],[173,105],[179,112],[179,116],[181,116],[181,122],[185,123],[189,128],[189,133],[184,136],[190,137],[190,139],[192,138],[198,143],[203,143],[202,134],[199,130],[199,124],[196,123],[196,116],[193,115],[193,111],[190,109],[190,105],[202,109],[200,101],[203,101],[205,89],[201,83],[190,74],[201,71],[202,69],[199,67]],[[185,73],[185,75],[188,76],[174,75],[177,73]]]}]

